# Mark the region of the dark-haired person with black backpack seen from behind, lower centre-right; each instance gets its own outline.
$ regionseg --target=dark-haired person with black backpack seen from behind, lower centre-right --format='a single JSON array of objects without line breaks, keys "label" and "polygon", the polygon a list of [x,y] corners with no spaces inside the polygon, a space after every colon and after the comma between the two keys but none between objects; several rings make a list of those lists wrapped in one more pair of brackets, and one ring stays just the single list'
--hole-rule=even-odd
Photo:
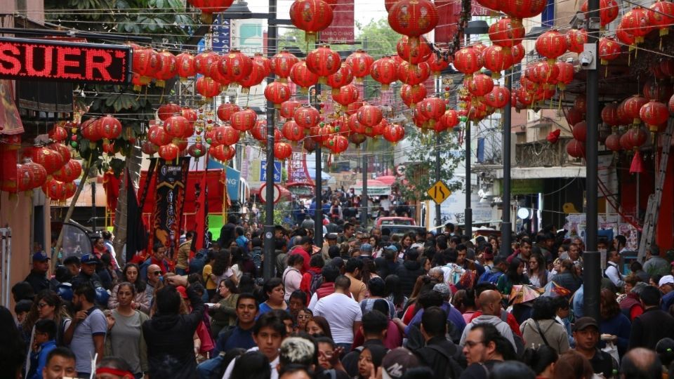
[{"label": "dark-haired person with black backpack seen from behind, lower centre-right", "polygon": [[425,346],[415,351],[419,361],[433,369],[433,379],[458,378],[466,366],[461,347],[447,339],[447,312],[429,307],[421,317]]}]

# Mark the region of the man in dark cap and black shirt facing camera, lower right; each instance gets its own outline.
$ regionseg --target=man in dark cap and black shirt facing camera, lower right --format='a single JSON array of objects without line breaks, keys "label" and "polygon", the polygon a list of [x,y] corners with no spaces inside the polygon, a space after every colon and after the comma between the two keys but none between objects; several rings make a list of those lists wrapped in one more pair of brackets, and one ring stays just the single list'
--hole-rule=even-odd
[{"label": "man in dark cap and black shirt facing camera, lower right", "polygon": [[599,325],[595,319],[592,317],[577,319],[576,324],[574,324],[574,340],[576,340],[576,351],[590,361],[595,373],[603,374],[604,378],[616,376],[618,362],[611,357],[611,354],[602,352],[597,347],[599,344]]}]

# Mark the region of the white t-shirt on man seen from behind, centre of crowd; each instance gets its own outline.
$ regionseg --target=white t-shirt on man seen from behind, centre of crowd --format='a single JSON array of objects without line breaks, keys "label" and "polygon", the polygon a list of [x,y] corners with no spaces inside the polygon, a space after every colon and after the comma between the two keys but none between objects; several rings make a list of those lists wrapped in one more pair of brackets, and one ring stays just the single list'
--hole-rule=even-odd
[{"label": "white t-shirt on man seen from behind, centre of crowd", "polygon": [[363,317],[355,300],[343,293],[333,293],[318,300],[313,311],[315,316],[328,321],[335,343],[353,343],[353,323]]}]

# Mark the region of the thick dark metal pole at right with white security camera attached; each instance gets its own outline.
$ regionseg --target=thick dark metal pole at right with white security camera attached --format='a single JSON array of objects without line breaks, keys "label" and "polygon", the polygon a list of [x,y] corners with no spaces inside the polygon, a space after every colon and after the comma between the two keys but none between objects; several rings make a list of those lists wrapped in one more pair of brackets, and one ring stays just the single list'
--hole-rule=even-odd
[{"label": "thick dark metal pole at right with white security camera attached", "polygon": [[[595,53],[599,51],[597,41],[599,30],[599,0],[588,0],[588,44],[594,44]],[[586,44],[585,46],[588,46]],[[596,54],[595,54],[596,55]],[[593,57],[597,60],[597,56]],[[596,67],[596,63],[595,63]],[[599,139],[599,72],[588,69],[587,81],[587,122],[588,137],[586,145],[586,249],[583,253],[583,306],[585,315],[600,321],[599,295],[601,284],[600,253],[597,251],[597,141]]]}]

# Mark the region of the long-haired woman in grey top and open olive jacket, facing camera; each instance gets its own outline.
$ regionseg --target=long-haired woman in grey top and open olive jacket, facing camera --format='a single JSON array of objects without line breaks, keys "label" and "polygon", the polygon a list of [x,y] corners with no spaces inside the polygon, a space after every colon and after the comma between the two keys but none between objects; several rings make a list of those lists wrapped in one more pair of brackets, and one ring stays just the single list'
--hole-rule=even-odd
[{"label": "long-haired woman in grey top and open olive jacket, facing camera", "polygon": [[150,317],[133,307],[137,294],[134,284],[124,281],[115,288],[117,307],[112,311],[106,311],[105,355],[124,359],[131,366],[136,378],[140,378],[149,370],[147,345],[142,328],[143,323]]}]

